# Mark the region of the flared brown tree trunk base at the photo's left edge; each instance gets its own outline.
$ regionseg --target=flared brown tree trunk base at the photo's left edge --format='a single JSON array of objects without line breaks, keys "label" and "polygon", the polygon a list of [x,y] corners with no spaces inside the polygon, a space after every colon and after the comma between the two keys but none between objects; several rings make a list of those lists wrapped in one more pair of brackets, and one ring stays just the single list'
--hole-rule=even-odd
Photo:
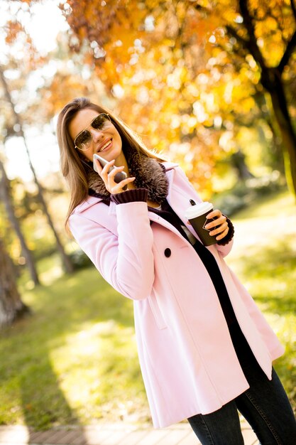
[{"label": "flared brown tree trunk base at the photo's left edge", "polygon": [[0,327],[11,324],[28,312],[30,309],[18,294],[11,258],[0,240]]}]

